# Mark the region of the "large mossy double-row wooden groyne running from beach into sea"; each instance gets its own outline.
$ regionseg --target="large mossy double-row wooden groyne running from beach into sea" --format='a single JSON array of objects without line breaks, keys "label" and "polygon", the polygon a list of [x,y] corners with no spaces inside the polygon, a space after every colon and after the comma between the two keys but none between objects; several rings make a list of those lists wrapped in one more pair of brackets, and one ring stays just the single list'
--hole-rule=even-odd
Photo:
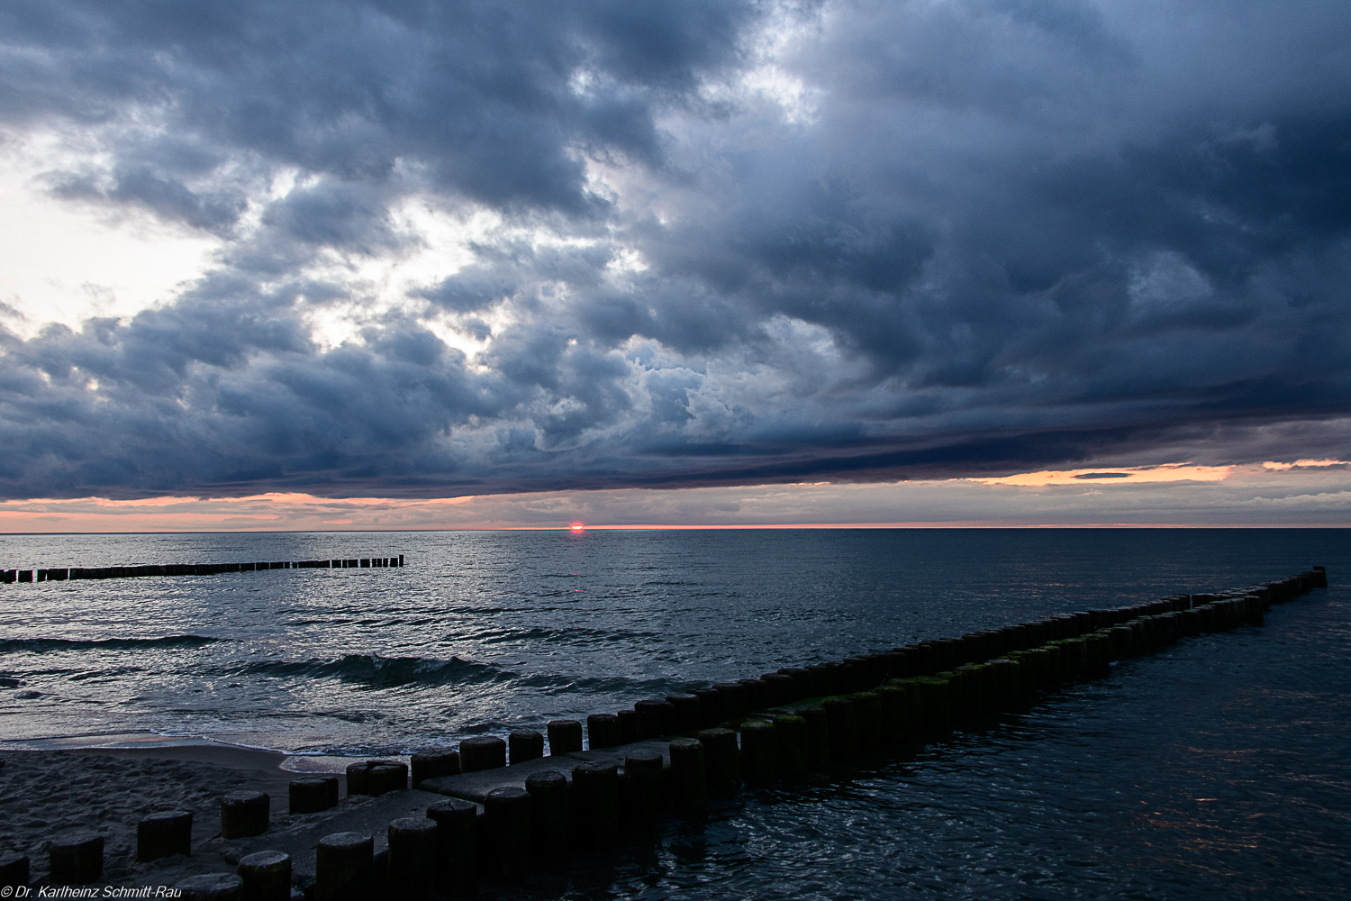
[{"label": "large mossy double-row wooden groyne running from beach into sea", "polygon": [[[743,785],[792,781],[940,733],[1031,693],[1105,675],[1111,663],[1179,639],[1260,623],[1274,604],[1325,588],[1313,567],[1277,582],[1032,623],[785,667],[615,713],[554,720],[546,736],[481,735],[401,761],[361,761],[339,777],[296,779],[290,825],[273,829],[263,793],[226,796],[224,859],[236,873],[180,882],[186,901],[346,901],[466,896],[481,878],[563,871],[576,855],[643,840],[663,812],[697,817]],[[584,747],[584,738],[586,747]],[[381,819],[384,817],[384,819]],[[162,812],[138,831],[138,859],[178,854],[192,817]],[[50,881],[97,881],[103,838],[51,846]],[[28,859],[0,856],[0,885],[26,885]]]}]

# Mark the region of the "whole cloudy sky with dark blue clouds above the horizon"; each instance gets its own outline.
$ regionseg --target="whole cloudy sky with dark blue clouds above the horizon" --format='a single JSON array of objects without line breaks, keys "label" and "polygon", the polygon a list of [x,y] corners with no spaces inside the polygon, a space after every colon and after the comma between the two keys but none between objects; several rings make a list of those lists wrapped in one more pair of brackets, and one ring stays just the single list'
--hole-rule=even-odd
[{"label": "whole cloudy sky with dark blue clouds above the horizon", "polygon": [[0,531],[1351,524],[1344,0],[0,5]]}]

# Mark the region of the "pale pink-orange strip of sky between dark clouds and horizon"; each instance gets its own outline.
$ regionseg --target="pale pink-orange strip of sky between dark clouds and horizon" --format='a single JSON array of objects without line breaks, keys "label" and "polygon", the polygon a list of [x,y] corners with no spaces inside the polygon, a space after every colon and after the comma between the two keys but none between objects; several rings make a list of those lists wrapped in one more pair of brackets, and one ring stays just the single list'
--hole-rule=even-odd
[{"label": "pale pink-orange strip of sky between dark clouds and horizon", "polygon": [[[0,532],[1351,525],[1351,463],[1121,467],[886,484],[612,489],[451,498],[34,498]],[[1088,475],[1088,478],[1084,478]]]}]

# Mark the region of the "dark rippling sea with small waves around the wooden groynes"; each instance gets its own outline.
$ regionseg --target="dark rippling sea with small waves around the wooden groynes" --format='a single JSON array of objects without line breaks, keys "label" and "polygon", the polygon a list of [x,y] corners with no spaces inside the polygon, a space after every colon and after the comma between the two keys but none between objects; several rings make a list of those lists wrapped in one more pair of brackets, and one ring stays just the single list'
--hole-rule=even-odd
[{"label": "dark rippling sea with small waves around the wooden groynes", "polygon": [[397,557],[0,585],[0,748],[332,761],[785,666],[1282,578],[1329,588],[923,743],[748,789],[509,898],[1346,898],[1351,530],[7,535],[4,567]]}]

